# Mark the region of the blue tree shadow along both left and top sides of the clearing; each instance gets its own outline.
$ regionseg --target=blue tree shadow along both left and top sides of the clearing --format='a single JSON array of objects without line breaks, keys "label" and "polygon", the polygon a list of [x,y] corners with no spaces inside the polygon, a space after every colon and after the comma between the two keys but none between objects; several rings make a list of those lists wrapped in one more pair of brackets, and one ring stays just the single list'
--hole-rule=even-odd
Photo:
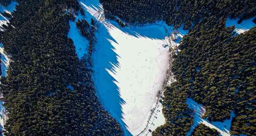
[{"label": "blue tree shadow along both left and top sides of the clearing", "polygon": [[[91,18],[98,20],[98,32],[95,33],[97,43],[93,53],[93,80],[97,90],[97,96],[103,104],[104,108],[121,124],[125,136],[132,136],[127,130],[129,126],[123,121],[122,105],[126,104],[120,96],[120,88],[117,86],[118,81],[112,76],[116,75],[116,70],[120,68],[118,58],[113,44],[118,45],[118,42],[109,33],[111,29],[119,29],[122,32],[135,36],[136,38],[149,38],[152,40],[163,40],[166,28],[152,29],[156,26],[164,26],[165,24],[147,24],[143,26],[130,26],[120,28],[115,21],[100,20],[103,7],[98,0],[80,0],[81,6],[86,12],[86,20],[90,22]],[[98,12],[98,11],[101,11]],[[143,30],[142,30],[143,27]]]}]

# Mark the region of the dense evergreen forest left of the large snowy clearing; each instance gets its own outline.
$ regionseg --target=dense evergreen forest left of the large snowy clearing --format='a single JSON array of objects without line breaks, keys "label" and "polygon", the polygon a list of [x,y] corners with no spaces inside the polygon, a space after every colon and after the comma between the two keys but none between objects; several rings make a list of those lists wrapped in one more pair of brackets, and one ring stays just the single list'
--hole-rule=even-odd
[{"label": "dense evergreen forest left of the large snowy clearing", "polygon": [[98,101],[92,70],[67,38],[74,17],[66,10],[77,13],[78,2],[17,2],[10,24],[0,32],[11,56],[0,85],[8,116],[5,136],[123,136]]}]

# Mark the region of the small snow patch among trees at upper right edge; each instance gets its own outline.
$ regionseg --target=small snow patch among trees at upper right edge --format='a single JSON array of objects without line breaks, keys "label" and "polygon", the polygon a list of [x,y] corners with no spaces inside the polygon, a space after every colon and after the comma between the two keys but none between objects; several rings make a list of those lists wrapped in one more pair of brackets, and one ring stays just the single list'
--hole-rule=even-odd
[{"label": "small snow patch among trees at upper right edge", "polygon": [[[253,17],[255,18],[255,17]],[[236,34],[241,34],[241,33],[244,33],[246,31],[249,31],[249,29],[253,28],[254,26],[256,26],[255,23],[253,23],[253,18],[250,18],[248,20],[243,20],[242,23],[238,24],[237,21],[239,19],[234,19],[234,20],[231,20],[230,18],[227,18],[226,20],[226,27],[231,27],[231,26],[235,26],[235,32]]]}]

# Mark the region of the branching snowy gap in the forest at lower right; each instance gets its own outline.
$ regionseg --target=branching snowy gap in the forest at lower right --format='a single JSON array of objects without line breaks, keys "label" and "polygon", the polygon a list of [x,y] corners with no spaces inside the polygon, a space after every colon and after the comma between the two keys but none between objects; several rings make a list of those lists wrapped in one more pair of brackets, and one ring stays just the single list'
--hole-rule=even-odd
[{"label": "branching snowy gap in the forest at lower right", "polygon": [[205,126],[208,126],[209,128],[214,128],[216,129],[221,136],[230,136],[230,127],[231,127],[231,121],[232,118],[235,117],[234,111],[231,112],[230,119],[226,119],[224,122],[211,122],[208,121],[207,119],[202,119],[202,115],[205,113],[205,109],[202,106],[202,104],[198,104],[191,98],[188,98],[186,101],[186,104],[188,104],[188,107],[190,109],[193,109],[195,111],[194,114],[194,122],[192,127],[190,128],[189,132],[187,133],[186,136],[190,136],[191,133],[194,131],[195,127],[199,125],[200,123],[205,124]]}]

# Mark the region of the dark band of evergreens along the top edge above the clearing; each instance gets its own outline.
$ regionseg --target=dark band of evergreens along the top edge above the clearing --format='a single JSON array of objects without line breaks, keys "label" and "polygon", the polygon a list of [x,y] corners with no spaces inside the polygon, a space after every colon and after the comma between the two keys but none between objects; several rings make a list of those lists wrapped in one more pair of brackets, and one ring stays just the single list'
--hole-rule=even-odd
[{"label": "dark band of evergreens along the top edge above the clearing", "polygon": [[106,17],[120,17],[130,23],[164,20],[168,25],[192,28],[204,17],[231,17],[242,20],[256,13],[254,0],[99,0]]}]

